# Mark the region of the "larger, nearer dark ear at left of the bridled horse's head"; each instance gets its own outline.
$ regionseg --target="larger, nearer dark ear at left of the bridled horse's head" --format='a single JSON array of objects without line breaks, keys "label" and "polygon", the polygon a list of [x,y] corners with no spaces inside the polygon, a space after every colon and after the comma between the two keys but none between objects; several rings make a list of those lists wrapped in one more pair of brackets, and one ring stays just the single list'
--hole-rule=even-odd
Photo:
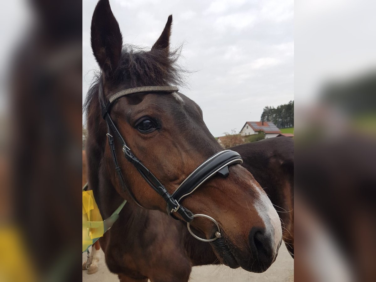
[{"label": "larger, nearer dark ear at left of the bridled horse's head", "polygon": [[123,37],[109,0],[100,0],[91,20],[91,49],[106,76],[116,70],[122,45]]}]

